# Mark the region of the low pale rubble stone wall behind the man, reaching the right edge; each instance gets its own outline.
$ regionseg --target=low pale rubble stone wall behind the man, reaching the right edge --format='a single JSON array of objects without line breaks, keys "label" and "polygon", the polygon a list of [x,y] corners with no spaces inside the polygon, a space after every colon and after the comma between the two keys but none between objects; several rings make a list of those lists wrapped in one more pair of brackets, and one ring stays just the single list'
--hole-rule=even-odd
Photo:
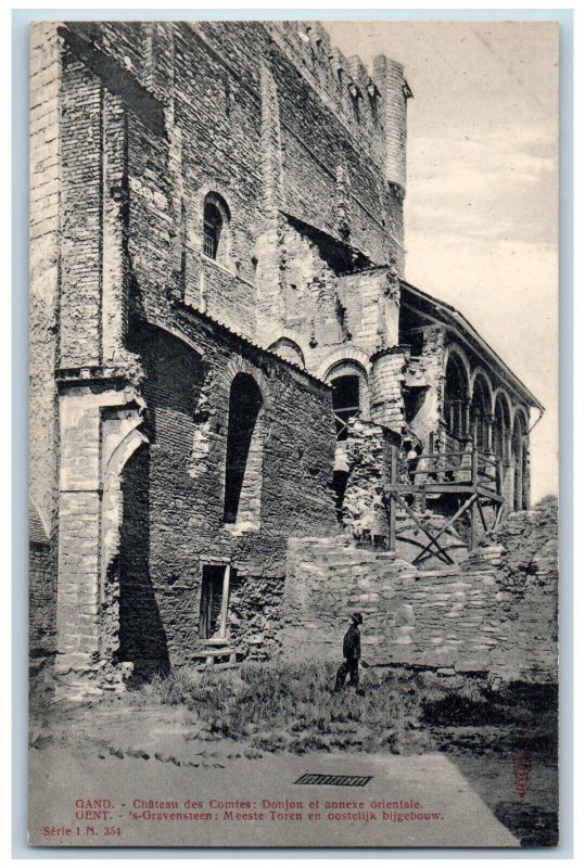
[{"label": "low pale rubble stone wall behind the man, reaching the right edge", "polygon": [[281,653],[340,660],[347,617],[359,611],[367,662],[554,679],[556,584],[547,552],[521,599],[512,599],[491,548],[469,562],[419,572],[391,552],[291,539]]}]

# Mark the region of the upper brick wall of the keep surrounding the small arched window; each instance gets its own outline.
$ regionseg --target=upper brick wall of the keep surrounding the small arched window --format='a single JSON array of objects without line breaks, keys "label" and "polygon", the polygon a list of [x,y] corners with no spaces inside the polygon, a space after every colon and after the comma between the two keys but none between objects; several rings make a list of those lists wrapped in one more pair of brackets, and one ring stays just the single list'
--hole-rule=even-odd
[{"label": "upper brick wall of the keep surrounding the small arched window", "polygon": [[[99,155],[102,146],[106,153],[113,146],[106,115],[112,97],[118,100],[127,129],[129,263],[142,295],[179,293],[195,307],[203,297],[207,312],[254,335],[256,303],[262,307],[263,293],[270,292],[269,281],[257,282],[258,275],[271,273],[269,263],[259,259],[281,255],[274,245],[257,246],[269,217],[267,186],[276,182],[267,165],[276,165],[282,188],[278,195],[272,190],[275,205],[338,240],[349,240],[374,263],[393,257],[402,270],[402,204],[384,178],[382,114],[372,113],[370,106],[359,120],[339,117],[340,100],[352,105],[347,81],[339,82],[329,60],[318,59],[318,64],[329,66],[320,84],[315,64],[309,76],[295,68],[287,48],[291,38],[298,38],[295,34],[289,25],[275,29],[211,22],[76,23],[63,29],[67,43],[64,189],[72,204],[85,186],[84,201],[65,226],[69,247],[64,301],[72,311],[69,331],[67,323],[64,331],[64,343],[71,343],[67,363],[79,363],[84,352],[86,363],[100,354],[99,332],[88,331],[79,352],[75,341],[81,340],[76,328],[79,306],[89,318],[99,319],[103,268],[99,224],[113,187]],[[367,90],[365,69],[358,65],[352,73],[349,64],[347,74]],[[326,81],[331,93],[323,99]],[[365,92],[360,99],[370,105]],[[276,124],[268,132],[263,130],[267,101]],[[221,194],[231,215],[225,268],[202,256],[203,202],[209,190]],[[349,239],[340,233],[340,208]],[[82,261],[91,266],[86,272]],[[84,289],[80,295],[75,295],[76,286]]]}]

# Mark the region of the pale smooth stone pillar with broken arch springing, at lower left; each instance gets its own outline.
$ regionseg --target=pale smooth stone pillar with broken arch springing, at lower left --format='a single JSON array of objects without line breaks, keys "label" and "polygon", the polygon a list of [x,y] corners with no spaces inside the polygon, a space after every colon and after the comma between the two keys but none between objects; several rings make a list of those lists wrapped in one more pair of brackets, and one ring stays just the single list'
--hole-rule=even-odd
[{"label": "pale smooth stone pillar with broken arch springing, at lower left", "polygon": [[55,674],[69,694],[120,685],[112,661],[116,642],[105,635],[117,630],[105,576],[117,552],[119,473],[145,442],[138,431],[142,409],[131,387],[61,383]]}]

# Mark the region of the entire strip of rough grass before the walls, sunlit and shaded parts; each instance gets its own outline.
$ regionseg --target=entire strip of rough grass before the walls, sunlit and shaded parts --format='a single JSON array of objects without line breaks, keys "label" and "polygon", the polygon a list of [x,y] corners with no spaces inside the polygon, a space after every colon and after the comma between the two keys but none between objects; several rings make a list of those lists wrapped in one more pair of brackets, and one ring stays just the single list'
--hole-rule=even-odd
[{"label": "entire strip of rough grass before the walls, sunlit and shaded parts", "polygon": [[212,739],[293,753],[423,753],[438,748],[443,730],[503,727],[508,731],[534,717],[531,705],[544,704],[542,688],[509,686],[494,691],[486,679],[398,667],[368,669],[363,694],[352,688],[335,693],[335,663],[284,662],[247,663],[221,672],[182,669],[155,676],[122,701],[182,706]]}]

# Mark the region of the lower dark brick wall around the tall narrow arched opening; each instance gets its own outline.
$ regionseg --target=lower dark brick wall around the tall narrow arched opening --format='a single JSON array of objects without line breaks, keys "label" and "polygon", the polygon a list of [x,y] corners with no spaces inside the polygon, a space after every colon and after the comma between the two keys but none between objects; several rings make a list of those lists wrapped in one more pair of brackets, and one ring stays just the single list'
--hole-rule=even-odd
[{"label": "lower dark brick wall around the tall narrow arched opening", "polygon": [[[136,620],[142,605],[150,633],[165,637],[156,659],[142,661],[147,668],[192,660],[199,647],[202,566],[227,560],[237,571],[230,603],[234,641],[253,656],[265,655],[277,629],[288,537],[311,527],[336,532],[329,492],[329,390],[205,318],[189,317],[185,328],[201,355],[144,322],[133,324],[130,342],[145,372],[150,445],[141,461],[137,454],[124,471],[125,503],[136,506],[125,507],[120,618],[133,612]],[[262,384],[267,414],[258,465],[259,524],[252,529],[224,523],[229,387],[240,370]],[[130,624],[130,635],[140,635],[143,626],[137,624]],[[138,640],[128,641],[120,654],[129,651],[133,659]]]}]

